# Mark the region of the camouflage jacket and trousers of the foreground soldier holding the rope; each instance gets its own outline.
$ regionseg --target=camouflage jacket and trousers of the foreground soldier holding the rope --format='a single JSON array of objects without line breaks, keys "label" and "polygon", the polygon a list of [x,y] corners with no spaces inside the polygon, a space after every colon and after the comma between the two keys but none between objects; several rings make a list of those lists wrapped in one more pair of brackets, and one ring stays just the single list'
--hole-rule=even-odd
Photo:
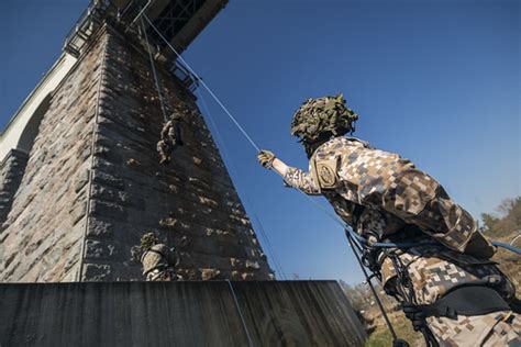
[{"label": "camouflage jacket and trousers of the foreground soldier holding the rope", "polygon": [[[415,242],[440,242],[443,246],[397,250],[412,280],[418,304],[434,303],[448,290],[468,283],[495,282],[502,286],[497,289],[505,296],[513,295],[513,286],[492,261],[464,254],[475,239],[492,249],[470,214],[410,160],[372,148],[357,138],[335,137],[313,153],[309,172],[289,168],[285,181],[308,194],[323,194],[335,212],[365,237],[386,239],[399,236],[407,225],[415,225],[421,230],[413,235]],[[355,215],[359,206],[364,206],[363,212]],[[397,278],[392,261],[380,254],[379,264],[384,287],[392,287]],[[428,318],[433,334],[446,346],[454,342],[479,346],[487,339],[494,344],[501,338],[516,343],[519,329],[513,328],[519,322],[520,317],[511,312],[461,316],[458,321]],[[479,333],[488,333],[475,334],[474,326]],[[508,333],[496,336],[501,329]]]}]

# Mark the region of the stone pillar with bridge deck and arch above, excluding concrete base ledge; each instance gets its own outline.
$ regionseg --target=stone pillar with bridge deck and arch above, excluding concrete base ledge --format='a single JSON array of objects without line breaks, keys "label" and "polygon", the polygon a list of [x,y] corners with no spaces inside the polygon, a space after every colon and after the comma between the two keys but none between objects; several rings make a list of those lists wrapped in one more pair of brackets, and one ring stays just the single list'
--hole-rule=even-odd
[{"label": "stone pillar with bridge deck and arch above, excluding concrete base ledge", "polygon": [[143,280],[146,231],[177,248],[186,279],[273,277],[197,86],[146,25],[166,108],[192,111],[158,164],[164,120],[137,29],[146,13],[181,52],[226,1],[188,2],[93,1],[14,114],[0,137],[0,281]]}]

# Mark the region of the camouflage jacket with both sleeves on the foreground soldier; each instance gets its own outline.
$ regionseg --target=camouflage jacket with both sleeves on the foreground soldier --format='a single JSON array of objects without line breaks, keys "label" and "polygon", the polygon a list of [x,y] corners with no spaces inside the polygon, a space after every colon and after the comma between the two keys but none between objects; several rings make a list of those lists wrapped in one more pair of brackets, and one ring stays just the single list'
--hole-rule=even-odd
[{"label": "camouflage jacket with both sleeves on the foreground soldier", "polygon": [[[310,172],[289,168],[285,180],[308,194],[323,194],[361,235],[370,231],[381,239],[413,224],[458,251],[479,235],[470,214],[437,181],[410,160],[354,137],[324,143],[310,159]],[[366,209],[355,221],[356,205]]]}]

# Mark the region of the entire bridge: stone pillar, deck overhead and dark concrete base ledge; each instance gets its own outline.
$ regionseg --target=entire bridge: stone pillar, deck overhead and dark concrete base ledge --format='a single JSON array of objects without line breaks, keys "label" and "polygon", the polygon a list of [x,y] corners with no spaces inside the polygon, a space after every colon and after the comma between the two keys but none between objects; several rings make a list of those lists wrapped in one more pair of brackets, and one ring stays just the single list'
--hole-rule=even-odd
[{"label": "entire bridge: stone pillar, deck overhead and dark concrete base ledge", "polygon": [[[0,345],[363,345],[339,283],[276,280],[170,49],[226,2],[93,0],[1,133]],[[163,102],[189,110],[166,166]],[[184,281],[144,282],[149,231]]]}]

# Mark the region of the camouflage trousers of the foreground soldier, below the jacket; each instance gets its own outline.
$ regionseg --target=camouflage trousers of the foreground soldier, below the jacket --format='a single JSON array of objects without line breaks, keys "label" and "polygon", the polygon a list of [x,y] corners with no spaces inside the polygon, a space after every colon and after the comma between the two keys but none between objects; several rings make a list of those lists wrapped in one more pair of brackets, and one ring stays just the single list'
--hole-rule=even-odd
[{"label": "camouflage trousers of the foreground soldier, below the jacket", "polygon": [[[432,304],[459,286],[485,283],[494,279],[502,283],[497,290],[513,295],[513,286],[490,260],[477,259],[446,248],[423,246],[396,253],[411,279],[418,304]],[[393,286],[396,269],[383,257],[383,283]],[[399,295],[399,301],[403,301]],[[511,311],[483,315],[428,317],[428,326],[441,346],[521,346],[521,315]]]}]

